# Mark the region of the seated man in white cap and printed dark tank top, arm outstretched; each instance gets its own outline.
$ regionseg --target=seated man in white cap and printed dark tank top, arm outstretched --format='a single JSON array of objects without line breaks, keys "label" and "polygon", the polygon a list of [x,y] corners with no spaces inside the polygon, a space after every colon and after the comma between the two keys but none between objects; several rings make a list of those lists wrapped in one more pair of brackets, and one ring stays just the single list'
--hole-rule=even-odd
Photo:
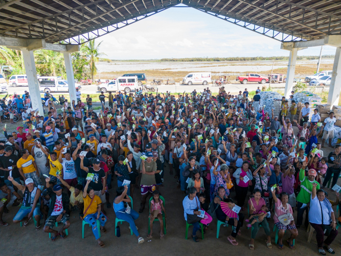
[{"label": "seated man in white cap and printed dark tank top, arm outstretched", "polygon": [[12,184],[19,190],[21,190],[23,198],[22,205],[13,218],[13,223],[24,221],[24,226],[27,226],[33,217],[36,220],[36,230],[39,230],[41,190],[34,186],[34,182],[31,178],[27,178],[25,180],[25,185],[21,185],[20,183],[16,182],[13,177],[8,177],[8,180],[11,181]]}]

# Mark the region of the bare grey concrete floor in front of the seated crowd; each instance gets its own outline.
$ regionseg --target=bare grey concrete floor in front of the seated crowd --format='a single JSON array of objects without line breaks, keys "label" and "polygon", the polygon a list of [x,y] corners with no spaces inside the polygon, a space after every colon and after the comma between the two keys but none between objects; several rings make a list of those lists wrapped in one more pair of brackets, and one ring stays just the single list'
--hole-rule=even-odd
[{"label": "bare grey concrete floor in front of the seated crowd", "polygon": [[[295,133],[297,133],[295,129]],[[321,142],[321,138],[319,139]],[[325,148],[324,155],[328,155],[332,149]],[[18,207],[9,207],[10,212],[4,214],[4,221],[10,223],[7,227],[0,227],[1,252],[0,255],[16,256],[16,255],[108,255],[114,253],[116,255],[319,255],[317,252],[317,243],[315,233],[308,244],[308,232],[304,225],[301,226],[299,236],[295,240],[295,248],[291,250],[285,240],[284,249],[280,250],[275,245],[275,232],[272,232],[274,221],[271,217],[269,226],[271,230],[272,249],[268,249],[264,240],[265,233],[261,228],[255,240],[255,250],[248,249],[249,239],[251,238],[251,229],[246,228],[244,223],[241,230],[241,236],[237,237],[238,246],[234,247],[226,239],[232,232],[231,226],[220,228],[219,239],[216,238],[217,221],[213,220],[209,229],[204,235],[204,240],[201,240],[199,231],[197,232],[199,243],[194,243],[191,239],[192,227],[189,228],[188,240],[185,239],[186,222],[184,219],[184,210],[182,201],[185,197],[183,191],[176,188],[176,179],[169,175],[169,165],[165,164],[165,182],[164,187],[160,187],[160,191],[166,201],[167,212],[167,234],[164,240],[160,240],[158,233],[160,225],[155,222],[153,228],[153,238],[148,242],[146,238],[148,233],[148,206],[140,214],[140,217],[135,221],[139,228],[141,236],[145,239],[143,244],[138,244],[137,237],[130,236],[128,224],[123,222],[119,224],[121,229],[121,237],[115,236],[115,213],[111,208],[106,208],[107,223],[105,225],[107,232],[102,233],[102,241],[105,243],[104,248],[97,245],[94,234],[88,225],[84,228],[84,239],[82,239],[82,222],[79,220],[78,212],[71,213],[71,226],[69,228],[69,236],[62,240],[60,237],[52,242],[49,239],[48,233],[45,233],[42,228],[39,231],[35,230],[34,223],[31,220],[27,227],[20,227],[19,224],[13,224],[12,219],[18,211]],[[338,182],[341,185],[341,182]],[[117,180],[114,178],[110,189],[110,203],[112,204],[115,198],[117,188]],[[330,189],[326,189],[329,193],[329,198],[335,200],[335,193]],[[235,198],[235,192],[231,191],[231,196]],[[135,189],[133,195],[133,208],[138,210],[140,207],[140,190]],[[245,200],[247,201],[247,200]],[[246,206],[246,202],[245,202]],[[336,211],[336,207],[334,207]],[[243,212],[246,216],[247,212]],[[294,213],[296,220],[296,213]],[[43,221],[40,222],[43,225]],[[60,228],[60,226],[59,226]],[[289,236],[285,233],[284,239]],[[332,243],[332,248],[335,250],[335,255],[341,255],[340,235],[336,237]],[[328,252],[327,252],[328,254]]]}]

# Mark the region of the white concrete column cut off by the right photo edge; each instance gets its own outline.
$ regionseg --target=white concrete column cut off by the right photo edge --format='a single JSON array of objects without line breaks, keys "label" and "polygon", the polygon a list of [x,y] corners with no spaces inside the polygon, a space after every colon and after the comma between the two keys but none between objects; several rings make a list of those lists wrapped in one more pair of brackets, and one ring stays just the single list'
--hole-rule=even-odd
[{"label": "white concrete column cut off by the right photo edge", "polygon": [[330,109],[333,107],[333,105],[336,106],[338,105],[340,90],[341,90],[341,47],[337,47],[335,52],[333,73],[331,75],[327,101],[327,103],[330,104]]}]

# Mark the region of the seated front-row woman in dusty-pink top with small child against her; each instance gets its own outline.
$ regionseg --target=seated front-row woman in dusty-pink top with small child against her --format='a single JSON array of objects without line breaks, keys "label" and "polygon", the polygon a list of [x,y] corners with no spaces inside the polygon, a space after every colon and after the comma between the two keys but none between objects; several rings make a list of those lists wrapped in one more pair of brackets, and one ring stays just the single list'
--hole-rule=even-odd
[{"label": "seated front-row woman in dusty-pink top with small child against her", "polygon": [[[261,197],[261,191],[258,188],[255,188],[253,195],[254,197],[248,200],[249,215],[259,214],[262,207],[266,206],[265,200]],[[270,228],[265,217],[266,217],[266,213],[259,215],[258,221],[252,224],[254,229],[252,230],[251,241],[249,242],[249,245],[248,245],[248,248],[250,248],[251,250],[255,249],[254,243],[255,243],[255,238],[257,236],[257,233],[259,231],[259,225],[262,225],[264,228],[264,231],[267,237],[267,240],[265,240],[267,248],[272,248]]]}]

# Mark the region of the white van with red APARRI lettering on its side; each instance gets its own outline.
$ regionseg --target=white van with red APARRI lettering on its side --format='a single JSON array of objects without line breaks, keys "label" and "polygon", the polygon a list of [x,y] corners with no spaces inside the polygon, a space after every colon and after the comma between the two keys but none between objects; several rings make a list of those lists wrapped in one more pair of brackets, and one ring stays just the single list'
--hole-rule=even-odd
[{"label": "white van with red APARRI lettering on its side", "polygon": [[125,91],[130,93],[139,88],[139,80],[137,76],[120,76],[116,80],[107,83],[101,83],[97,87],[101,92]]}]

